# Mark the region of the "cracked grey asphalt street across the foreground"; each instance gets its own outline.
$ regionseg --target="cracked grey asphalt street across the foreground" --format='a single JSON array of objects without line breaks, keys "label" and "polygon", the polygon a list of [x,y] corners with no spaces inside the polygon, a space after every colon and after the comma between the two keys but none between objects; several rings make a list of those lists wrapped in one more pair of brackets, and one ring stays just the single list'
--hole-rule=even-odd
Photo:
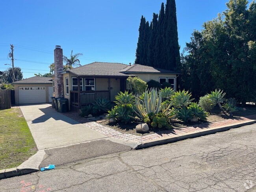
[{"label": "cracked grey asphalt street across the foreground", "polygon": [[77,148],[87,159],[65,164],[48,151],[58,157],[55,170],[2,179],[0,191],[256,191],[256,124],[144,150],[121,148],[95,157]]}]

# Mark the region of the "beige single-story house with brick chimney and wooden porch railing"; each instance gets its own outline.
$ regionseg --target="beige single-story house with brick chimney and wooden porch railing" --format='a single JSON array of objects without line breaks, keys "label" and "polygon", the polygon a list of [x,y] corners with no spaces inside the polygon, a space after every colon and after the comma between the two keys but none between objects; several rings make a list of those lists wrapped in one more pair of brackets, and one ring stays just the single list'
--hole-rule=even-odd
[{"label": "beige single-story house with brick chimney and wooden porch railing", "polygon": [[[94,62],[63,71],[63,50],[54,50],[55,76],[52,78],[53,96],[69,100],[70,110],[77,111],[97,98],[115,100],[118,92],[128,89],[126,79],[137,76],[143,81],[151,79],[169,82],[176,89],[178,72],[139,64]],[[79,79],[79,80],[78,80]]]}]

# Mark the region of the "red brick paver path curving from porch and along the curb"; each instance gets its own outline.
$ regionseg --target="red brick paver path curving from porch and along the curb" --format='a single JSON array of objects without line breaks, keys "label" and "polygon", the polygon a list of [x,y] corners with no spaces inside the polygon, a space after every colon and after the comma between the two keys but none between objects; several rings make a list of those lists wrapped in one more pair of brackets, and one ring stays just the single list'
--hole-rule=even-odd
[{"label": "red brick paver path curving from porch and along the curb", "polygon": [[187,133],[193,133],[194,131],[200,131],[202,129],[217,128],[222,126],[232,126],[234,124],[248,122],[249,120],[256,120],[256,114],[253,114],[246,117],[236,117],[236,118],[213,122],[213,123],[198,124],[190,127],[183,127],[180,129],[171,129],[171,130],[160,131],[160,132],[149,134],[149,135],[137,136],[132,134],[121,133],[115,129],[111,129],[110,127],[106,127],[96,122],[93,122],[91,120],[88,120],[87,118],[80,117],[77,112],[68,112],[68,113],[62,113],[62,114],[108,137],[114,137],[114,138],[138,141],[138,142],[154,140],[154,139],[163,138],[163,137],[175,137],[175,136],[180,136]]}]

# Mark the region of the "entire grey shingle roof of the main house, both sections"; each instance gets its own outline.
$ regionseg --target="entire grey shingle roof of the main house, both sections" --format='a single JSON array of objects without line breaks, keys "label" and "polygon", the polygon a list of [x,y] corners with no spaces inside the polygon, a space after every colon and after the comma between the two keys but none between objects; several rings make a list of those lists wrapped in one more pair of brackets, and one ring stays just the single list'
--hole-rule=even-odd
[{"label": "entire grey shingle roof of the main house, both sections", "polygon": [[132,66],[122,63],[103,63],[94,62],[87,65],[83,65],[77,68],[67,70],[78,76],[134,76],[134,73],[165,73],[165,74],[179,74],[172,70],[165,70],[160,68],[154,68],[152,66],[145,66],[134,64]]}]

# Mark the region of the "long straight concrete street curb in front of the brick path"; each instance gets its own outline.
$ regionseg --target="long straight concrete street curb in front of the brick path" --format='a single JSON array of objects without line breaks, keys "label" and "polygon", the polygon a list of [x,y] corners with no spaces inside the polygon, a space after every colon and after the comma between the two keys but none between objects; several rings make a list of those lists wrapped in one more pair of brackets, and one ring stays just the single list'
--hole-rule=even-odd
[{"label": "long straight concrete street curb in front of the brick path", "polygon": [[219,127],[215,127],[215,128],[194,131],[191,133],[184,133],[180,136],[177,135],[177,136],[164,137],[164,138],[158,138],[158,139],[154,139],[154,140],[143,141],[140,145],[138,145],[135,148],[135,150],[144,149],[144,148],[157,146],[157,145],[173,143],[173,142],[177,142],[180,140],[185,140],[187,138],[195,138],[195,137],[210,135],[210,134],[227,131],[229,129],[234,129],[234,128],[241,127],[241,126],[247,126],[247,125],[254,124],[254,123],[256,123],[256,120],[249,120],[247,122],[232,124],[230,126],[219,126]]}]

